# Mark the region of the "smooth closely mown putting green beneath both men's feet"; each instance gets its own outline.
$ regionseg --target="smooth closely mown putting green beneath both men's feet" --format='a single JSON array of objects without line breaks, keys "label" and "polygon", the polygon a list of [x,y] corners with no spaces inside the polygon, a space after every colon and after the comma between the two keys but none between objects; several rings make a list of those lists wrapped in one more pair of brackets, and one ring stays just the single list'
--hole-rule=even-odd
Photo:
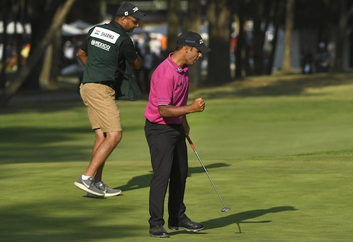
[{"label": "smooth closely mown putting green beneath both men's feet", "polygon": [[[258,159],[205,160],[223,207],[190,159],[187,214],[198,233],[168,241],[350,241],[353,151]],[[1,170],[2,241],[153,241],[148,236],[145,161],[110,161],[104,179],[124,192],[91,199],[73,186],[86,162],[6,164]]]}]

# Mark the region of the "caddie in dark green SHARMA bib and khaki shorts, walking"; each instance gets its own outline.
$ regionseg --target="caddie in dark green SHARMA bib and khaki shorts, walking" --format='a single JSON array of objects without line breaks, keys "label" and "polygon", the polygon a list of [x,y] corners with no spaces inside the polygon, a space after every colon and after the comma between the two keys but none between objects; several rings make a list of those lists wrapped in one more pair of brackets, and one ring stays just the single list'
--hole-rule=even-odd
[{"label": "caddie in dark green SHARMA bib and khaki shorts, walking", "polygon": [[115,90],[120,92],[122,77],[117,70],[125,71],[126,63],[136,69],[142,65],[141,57],[126,32],[139,26],[139,20],[145,15],[133,4],[124,3],[109,24],[89,30],[77,51],[85,66],[80,94],[96,139],[91,162],[74,184],[90,197],[110,197],[122,192],[103,183],[102,171],[105,160],[122,139],[120,110],[115,102],[115,95],[121,95]]}]

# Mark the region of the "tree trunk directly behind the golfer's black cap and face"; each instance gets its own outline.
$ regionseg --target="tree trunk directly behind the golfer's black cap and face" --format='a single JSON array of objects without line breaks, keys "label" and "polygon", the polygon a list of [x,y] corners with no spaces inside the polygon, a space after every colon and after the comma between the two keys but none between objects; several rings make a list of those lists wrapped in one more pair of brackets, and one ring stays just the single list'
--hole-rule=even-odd
[{"label": "tree trunk directly behind the golfer's black cap and face", "polygon": [[[188,14],[185,23],[183,23],[183,32],[193,31],[200,34],[201,27],[201,1],[200,0],[189,0],[188,1]],[[197,87],[200,84],[201,79],[201,58],[189,69],[190,74],[190,85]]]}]

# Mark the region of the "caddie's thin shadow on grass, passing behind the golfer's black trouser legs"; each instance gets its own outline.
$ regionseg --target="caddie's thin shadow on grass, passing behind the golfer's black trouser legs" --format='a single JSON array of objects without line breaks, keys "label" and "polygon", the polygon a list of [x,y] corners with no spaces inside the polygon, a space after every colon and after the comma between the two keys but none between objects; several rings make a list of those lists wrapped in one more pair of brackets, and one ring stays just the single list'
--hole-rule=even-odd
[{"label": "caddie's thin shadow on grass, passing behind the golfer's black trouser legs", "polygon": [[[214,164],[205,165],[206,169],[225,167],[225,166],[229,166],[229,165],[225,163],[214,163]],[[194,173],[202,173],[202,172],[205,172],[202,167],[189,167],[188,176],[191,176]],[[134,176],[128,181],[126,185],[116,187],[114,189],[120,189],[122,191],[131,191],[135,189],[147,188],[150,185],[151,178],[152,178],[152,171],[150,171],[149,174]]]}]

